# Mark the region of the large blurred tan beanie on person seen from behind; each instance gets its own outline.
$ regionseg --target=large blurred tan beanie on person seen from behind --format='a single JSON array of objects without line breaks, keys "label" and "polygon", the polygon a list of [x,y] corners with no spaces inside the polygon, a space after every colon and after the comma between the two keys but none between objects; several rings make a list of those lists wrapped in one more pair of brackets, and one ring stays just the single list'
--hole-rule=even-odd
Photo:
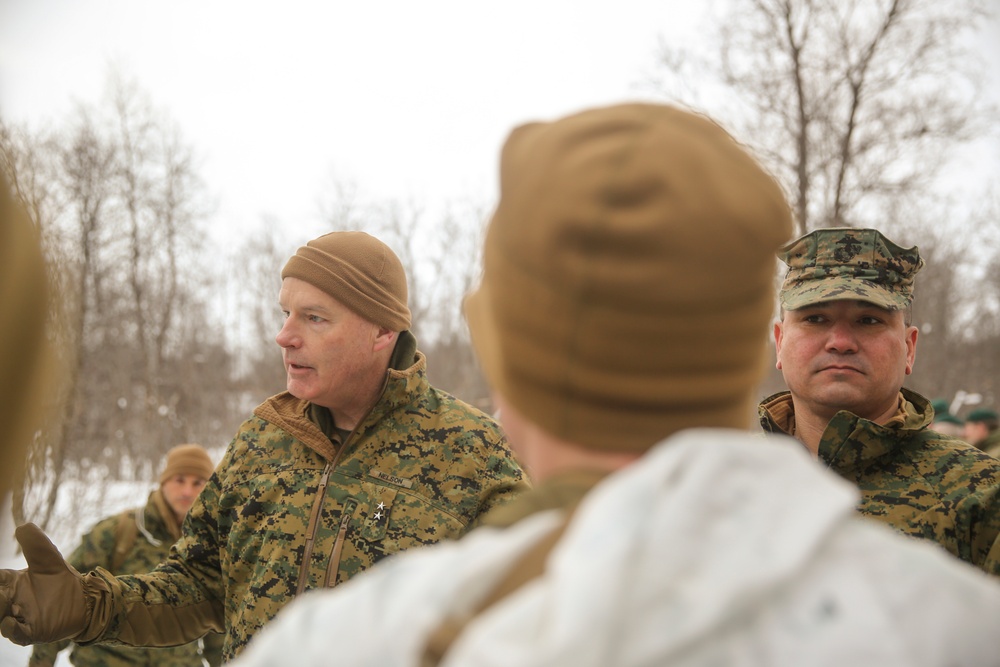
[{"label": "large blurred tan beanie on person seen from behind", "polygon": [[705,117],[627,104],[519,127],[465,304],[473,344],[492,386],[569,442],[747,428],[791,234],[781,188]]}]

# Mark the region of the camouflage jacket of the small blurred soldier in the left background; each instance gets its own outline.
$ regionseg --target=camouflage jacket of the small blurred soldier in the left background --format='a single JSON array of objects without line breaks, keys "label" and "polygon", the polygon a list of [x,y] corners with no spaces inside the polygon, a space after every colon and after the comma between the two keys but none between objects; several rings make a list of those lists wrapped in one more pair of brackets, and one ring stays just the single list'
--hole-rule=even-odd
[{"label": "camouflage jacket of the small blurred soldier in the left background", "polygon": [[[176,521],[169,516],[166,501],[159,489],[149,494],[145,507],[135,508],[99,521],[87,532],[68,562],[80,572],[98,567],[115,570],[116,574],[149,572],[170,553],[170,545],[180,536]],[[168,519],[164,519],[167,516]],[[135,539],[131,540],[121,566],[112,567],[115,547],[119,543],[119,524],[134,524]],[[29,667],[51,667],[59,651],[73,646],[70,661],[76,667],[202,667],[202,650],[193,641],[170,648],[133,648],[131,646],[76,646],[65,641],[39,644],[34,647]],[[222,635],[210,633],[205,641],[205,658],[210,665],[222,663]]]}]

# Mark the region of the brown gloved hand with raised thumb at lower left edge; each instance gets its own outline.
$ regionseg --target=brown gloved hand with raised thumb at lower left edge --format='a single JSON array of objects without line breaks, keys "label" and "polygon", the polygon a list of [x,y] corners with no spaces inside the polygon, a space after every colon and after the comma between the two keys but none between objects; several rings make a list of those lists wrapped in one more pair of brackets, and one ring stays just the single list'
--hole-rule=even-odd
[{"label": "brown gloved hand with raised thumb at lower left edge", "polygon": [[14,531],[26,570],[0,570],[0,634],[15,644],[79,635],[87,624],[83,578],[33,523]]}]

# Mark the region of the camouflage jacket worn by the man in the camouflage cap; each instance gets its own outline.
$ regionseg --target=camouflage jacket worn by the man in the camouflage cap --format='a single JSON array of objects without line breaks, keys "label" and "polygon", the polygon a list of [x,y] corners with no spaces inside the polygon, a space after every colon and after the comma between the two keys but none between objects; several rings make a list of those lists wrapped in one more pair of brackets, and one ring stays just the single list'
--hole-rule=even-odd
[{"label": "camouflage jacket worn by the man in the camouflage cap", "polygon": [[[823,432],[820,460],[858,486],[862,514],[1000,576],[1000,461],[927,428],[933,410],[920,394],[902,389],[900,404],[881,426],[838,412]],[[765,431],[792,435],[787,391],[764,399],[758,415]]]}]

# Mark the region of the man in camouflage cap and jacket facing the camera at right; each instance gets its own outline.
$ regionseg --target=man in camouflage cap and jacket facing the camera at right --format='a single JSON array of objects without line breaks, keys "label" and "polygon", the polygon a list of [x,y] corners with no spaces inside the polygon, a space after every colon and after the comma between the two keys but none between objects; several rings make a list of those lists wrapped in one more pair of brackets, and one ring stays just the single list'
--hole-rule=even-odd
[{"label": "man in camouflage cap and jacket facing the camera at right", "polygon": [[930,430],[930,402],[902,386],[917,347],[917,248],[832,228],[779,257],[788,272],[774,340],[789,391],[760,403],[761,426],[857,484],[863,514],[1000,575],[1000,463]]}]

